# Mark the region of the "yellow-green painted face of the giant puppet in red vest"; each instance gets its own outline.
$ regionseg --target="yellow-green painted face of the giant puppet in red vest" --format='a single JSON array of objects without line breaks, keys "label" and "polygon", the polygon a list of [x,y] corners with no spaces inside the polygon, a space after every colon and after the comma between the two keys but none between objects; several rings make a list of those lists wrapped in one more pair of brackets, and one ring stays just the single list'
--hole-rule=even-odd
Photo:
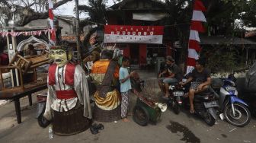
[{"label": "yellow-green painted face of the giant puppet in red vest", "polygon": [[53,58],[54,62],[59,66],[62,67],[68,63],[68,59],[66,56],[66,51],[63,49],[51,49],[50,56]]}]

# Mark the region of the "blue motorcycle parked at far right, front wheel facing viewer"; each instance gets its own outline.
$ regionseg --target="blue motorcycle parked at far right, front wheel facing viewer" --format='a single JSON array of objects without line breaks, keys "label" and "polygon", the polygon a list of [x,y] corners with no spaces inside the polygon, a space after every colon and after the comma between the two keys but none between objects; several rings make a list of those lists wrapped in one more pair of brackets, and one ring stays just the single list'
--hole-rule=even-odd
[{"label": "blue motorcycle parked at far right, front wheel facing viewer", "polygon": [[[226,119],[234,126],[243,127],[248,125],[251,120],[251,113],[248,110],[248,104],[238,98],[236,90],[236,78],[229,75],[229,78],[220,78],[224,83],[219,91],[210,86],[210,90],[219,97],[219,116]],[[217,94],[219,92],[219,94]]]}]

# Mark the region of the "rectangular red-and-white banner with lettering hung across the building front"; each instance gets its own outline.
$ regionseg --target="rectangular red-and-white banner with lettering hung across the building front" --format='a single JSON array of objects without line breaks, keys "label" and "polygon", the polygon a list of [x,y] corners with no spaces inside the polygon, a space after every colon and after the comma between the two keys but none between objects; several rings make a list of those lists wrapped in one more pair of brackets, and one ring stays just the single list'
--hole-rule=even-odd
[{"label": "rectangular red-and-white banner with lettering hung across the building front", "polygon": [[163,26],[105,25],[104,43],[162,44]]}]

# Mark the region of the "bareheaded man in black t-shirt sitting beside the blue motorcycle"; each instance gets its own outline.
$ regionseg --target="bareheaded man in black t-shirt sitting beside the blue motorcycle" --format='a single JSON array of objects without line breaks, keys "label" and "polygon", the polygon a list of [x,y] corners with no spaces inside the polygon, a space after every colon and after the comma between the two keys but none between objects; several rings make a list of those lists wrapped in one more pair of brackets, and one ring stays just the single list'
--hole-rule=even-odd
[{"label": "bareheaded man in black t-shirt sitting beside the blue motorcycle", "polygon": [[197,59],[194,70],[190,73],[189,78],[182,85],[191,82],[190,90],[188,93],[190,99],[190,113],[194,113],[194,94],[198,94],[205,91],[211,82],[210,71],[205,68],[205,61],[203,59]]}]

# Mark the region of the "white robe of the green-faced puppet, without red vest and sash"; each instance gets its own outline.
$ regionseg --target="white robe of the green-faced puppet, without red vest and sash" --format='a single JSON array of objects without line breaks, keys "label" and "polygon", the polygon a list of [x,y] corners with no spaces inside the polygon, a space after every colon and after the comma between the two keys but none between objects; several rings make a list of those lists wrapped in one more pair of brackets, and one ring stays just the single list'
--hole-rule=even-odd
[{"label": "white robe of the green-faced puppet, without red vest and sash", "polygon": [[[56,84],[48,84],[48,94],[46,101],[46,110],[43,116],[50,120],[53,118],[53,110],[58,112],[64,112],[72,110],[77,103],[80,103],[84,106],[84,116],[88,119],[91,119],[91,105],[90,97],[88,91],[88,82],[85,77],[85,71],[80,65],[75,65],[75,74],[74,74],[74,85],[70,86],[65,83],[65,71],[66,65],[63,67],[56,68]],[[49,77],[48,77],[49,78]],[[68,100],[60,100],[56,97],[56,91],[69,91],[74,89],[77,97],[71,98]]]}]

